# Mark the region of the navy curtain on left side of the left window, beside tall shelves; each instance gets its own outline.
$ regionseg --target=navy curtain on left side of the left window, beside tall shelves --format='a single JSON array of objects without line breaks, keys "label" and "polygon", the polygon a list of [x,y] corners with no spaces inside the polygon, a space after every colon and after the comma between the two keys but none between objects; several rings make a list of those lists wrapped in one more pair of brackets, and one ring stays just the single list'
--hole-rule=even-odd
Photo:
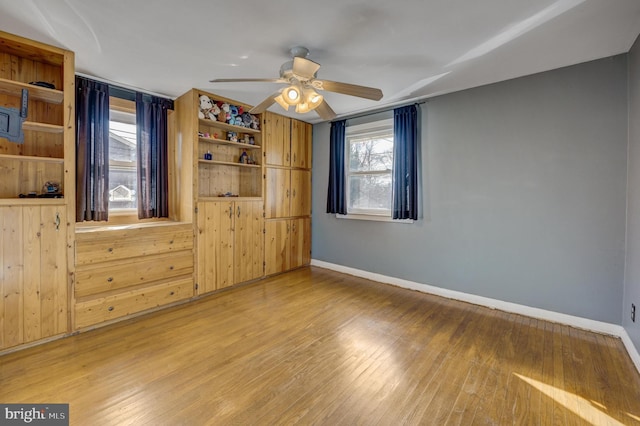
[{"label": "navy curtain on left side of the left window, beside tall shelves", "polygon": [[109,219],[109,85],[76,76],[76,221]]}]

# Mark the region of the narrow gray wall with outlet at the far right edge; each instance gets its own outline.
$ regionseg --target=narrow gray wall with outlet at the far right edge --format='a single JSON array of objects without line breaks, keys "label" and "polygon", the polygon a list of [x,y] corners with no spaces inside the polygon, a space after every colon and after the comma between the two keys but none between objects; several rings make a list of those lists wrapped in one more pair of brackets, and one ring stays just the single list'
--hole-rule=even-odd
[{"label": "narrow gray wall with outlet at the far right edge", "polygon": [[[640,352],[640,38],[629,54],[629,177],[623,326]],[[631,303],[636,322],[631,322]]]}]

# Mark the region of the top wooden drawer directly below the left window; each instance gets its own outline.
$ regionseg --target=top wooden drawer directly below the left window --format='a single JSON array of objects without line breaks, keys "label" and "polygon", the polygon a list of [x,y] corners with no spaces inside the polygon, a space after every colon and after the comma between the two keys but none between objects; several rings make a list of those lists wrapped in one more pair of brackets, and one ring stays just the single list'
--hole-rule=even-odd
[{"label": "top wooden drawer directly below the left window", "polygon": [[76,233],[76,265],[191,250],[191,224]]}]

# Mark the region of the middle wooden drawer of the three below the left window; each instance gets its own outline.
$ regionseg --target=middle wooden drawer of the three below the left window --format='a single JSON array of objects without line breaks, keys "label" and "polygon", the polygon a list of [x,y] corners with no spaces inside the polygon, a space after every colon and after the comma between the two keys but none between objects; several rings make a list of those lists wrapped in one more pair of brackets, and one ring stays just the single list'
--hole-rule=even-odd
[{"label": "middle wooden drawer of the three below the left window", "polygon": [[191,250],[79,265],[75,274],[75,296],[80,299],[97,293],[192,274]]}]

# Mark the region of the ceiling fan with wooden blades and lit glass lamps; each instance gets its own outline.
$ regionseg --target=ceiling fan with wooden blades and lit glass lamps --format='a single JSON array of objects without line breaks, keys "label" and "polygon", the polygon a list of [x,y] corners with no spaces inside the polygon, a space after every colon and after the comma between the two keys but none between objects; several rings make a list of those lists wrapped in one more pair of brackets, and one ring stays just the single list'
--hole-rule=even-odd
[{"label": "ceiling fan with wooden blades and lit glass lamps", "polygon": [[331,120],[336,116],[336,113],[327,104],[324,97],[317,92],[318,90],[358,96],[374,101],[382,99],[380,89],[316,78],[320,64],[307,59],[309,50],[306,47],[292,48],[291,55],[293,59],[280,67],[280,78],[217,78],[209,81],[211,83],[268,82],[288,85],[253,107],[249,111],[252,114],[261,113],[277,102],[285,110],[289,110],[291,106],[295,106],[296,112],[301,114],[315,110],[322,119]]}]

